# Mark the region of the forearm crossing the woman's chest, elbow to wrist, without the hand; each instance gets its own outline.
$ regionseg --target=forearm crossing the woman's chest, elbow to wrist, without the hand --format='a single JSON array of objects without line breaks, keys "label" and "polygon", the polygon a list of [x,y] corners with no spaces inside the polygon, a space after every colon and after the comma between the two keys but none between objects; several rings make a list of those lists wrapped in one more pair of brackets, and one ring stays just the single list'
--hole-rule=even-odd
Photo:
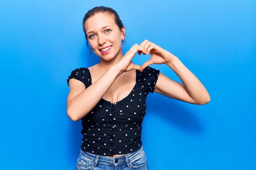
[{"label": "forearm crossing the woman's chest, elbow to wrist, without the hand", "polygon": [[67,108],[68,115],[75,121],[87,115],[121,74],[122,72],[118,69],[111,67],[96,82],[70,100]]}]

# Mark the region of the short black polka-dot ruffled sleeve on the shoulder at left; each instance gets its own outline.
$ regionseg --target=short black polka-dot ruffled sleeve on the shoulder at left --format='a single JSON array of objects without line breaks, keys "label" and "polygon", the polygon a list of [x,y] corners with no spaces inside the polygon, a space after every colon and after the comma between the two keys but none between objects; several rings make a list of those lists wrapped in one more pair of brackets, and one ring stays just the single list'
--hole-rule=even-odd
[{"label": "short black polka-dot ruffled sleeve on the shoulder at left", "polygon": [[88,87],[88,68],[76,68],[71,71],[70,76],[67,79],[67,85],[69,86],[70,79],[77,79],[80,82],[84,83],[85,87]]}]

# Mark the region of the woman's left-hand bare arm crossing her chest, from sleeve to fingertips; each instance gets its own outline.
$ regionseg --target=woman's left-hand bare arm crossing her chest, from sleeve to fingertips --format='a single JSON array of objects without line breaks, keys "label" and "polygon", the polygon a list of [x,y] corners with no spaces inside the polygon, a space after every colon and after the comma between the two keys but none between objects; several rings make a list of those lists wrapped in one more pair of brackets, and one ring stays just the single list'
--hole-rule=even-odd
[{"label": "woman's left-hand bare arm crossing her chest, from sleeve to fingertips", "polygon": [[79,80],[70,79],[70,93],[67,97],[67,115],[70,119],[77,121],[91,111],[122,73],[131,70],[143,71],[139,65],[134,65],[131,61],[137,51],[142,51],[143,54],[146,54],[144,48],[134,44],[116,65],[112,66],[88,88],[85,88],[84,84]]}]

